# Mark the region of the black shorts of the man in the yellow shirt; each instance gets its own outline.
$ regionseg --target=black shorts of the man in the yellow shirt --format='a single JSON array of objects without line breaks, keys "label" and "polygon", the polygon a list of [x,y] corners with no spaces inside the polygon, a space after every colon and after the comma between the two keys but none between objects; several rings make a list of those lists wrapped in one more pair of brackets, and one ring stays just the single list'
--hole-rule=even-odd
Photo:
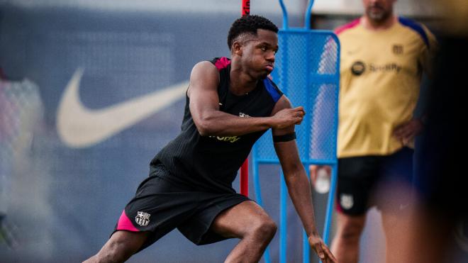
[{"label": "black shorts of the man in the yellow shirt", "polygon": [[413,150],[403,147],[391,155],[338,159],[337,209],[360,216],[371,206],[399,211],[408,205],[402,191],[411,188]]}]

